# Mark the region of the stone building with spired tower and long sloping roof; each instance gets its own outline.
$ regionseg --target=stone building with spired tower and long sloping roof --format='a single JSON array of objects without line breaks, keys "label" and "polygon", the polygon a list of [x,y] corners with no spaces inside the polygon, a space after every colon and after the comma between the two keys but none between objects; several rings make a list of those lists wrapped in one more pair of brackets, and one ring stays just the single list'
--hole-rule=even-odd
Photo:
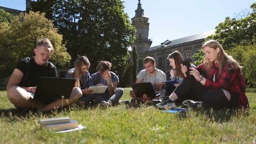
[{"label": "stone building with spired tower and long sloping roof", "polygon": [[[171,69],[171,66],[169,65],[167,56],[171,52],[178,50],[181,52],[184,59],[190,59],[191,62],[194,62],[193,55],[201,49],[204,39],[207,38],[207,36],[214,34],[215,30],[180,39],[167,39],[158,46],[151,47],[152,40],[148,39],[148,17],[144,15],[144,10],[141,7],[141,0],[138,1],[135,16],[131,18],[132,25],[137,29],[137,32],[135,33],[135,43],[131,45],[131,48],[135,48],[138,53],[137,73],[144,69],[143,59],[147,56],[151,56],[155,59],[157,68],[165,72],[167,79],[169,79],[169,69]],[[130,52],[130,54],[132,55],[132,52]]]}]

